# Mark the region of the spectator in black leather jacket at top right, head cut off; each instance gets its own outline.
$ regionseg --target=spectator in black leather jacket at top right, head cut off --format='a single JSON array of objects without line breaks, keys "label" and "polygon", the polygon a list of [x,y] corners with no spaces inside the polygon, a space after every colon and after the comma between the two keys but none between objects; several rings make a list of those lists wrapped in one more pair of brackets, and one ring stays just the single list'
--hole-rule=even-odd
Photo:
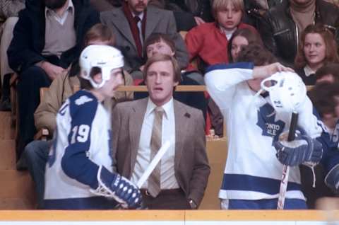
[{"label": "spectator in black leather jacket at top right, head cut off", "polygon": [[339,8],[323,0],[287,0],[263,15],[258,30],[265,46],[278,60],[293,66],[299,37],[309,24],[323,23],[339,42]]}]

